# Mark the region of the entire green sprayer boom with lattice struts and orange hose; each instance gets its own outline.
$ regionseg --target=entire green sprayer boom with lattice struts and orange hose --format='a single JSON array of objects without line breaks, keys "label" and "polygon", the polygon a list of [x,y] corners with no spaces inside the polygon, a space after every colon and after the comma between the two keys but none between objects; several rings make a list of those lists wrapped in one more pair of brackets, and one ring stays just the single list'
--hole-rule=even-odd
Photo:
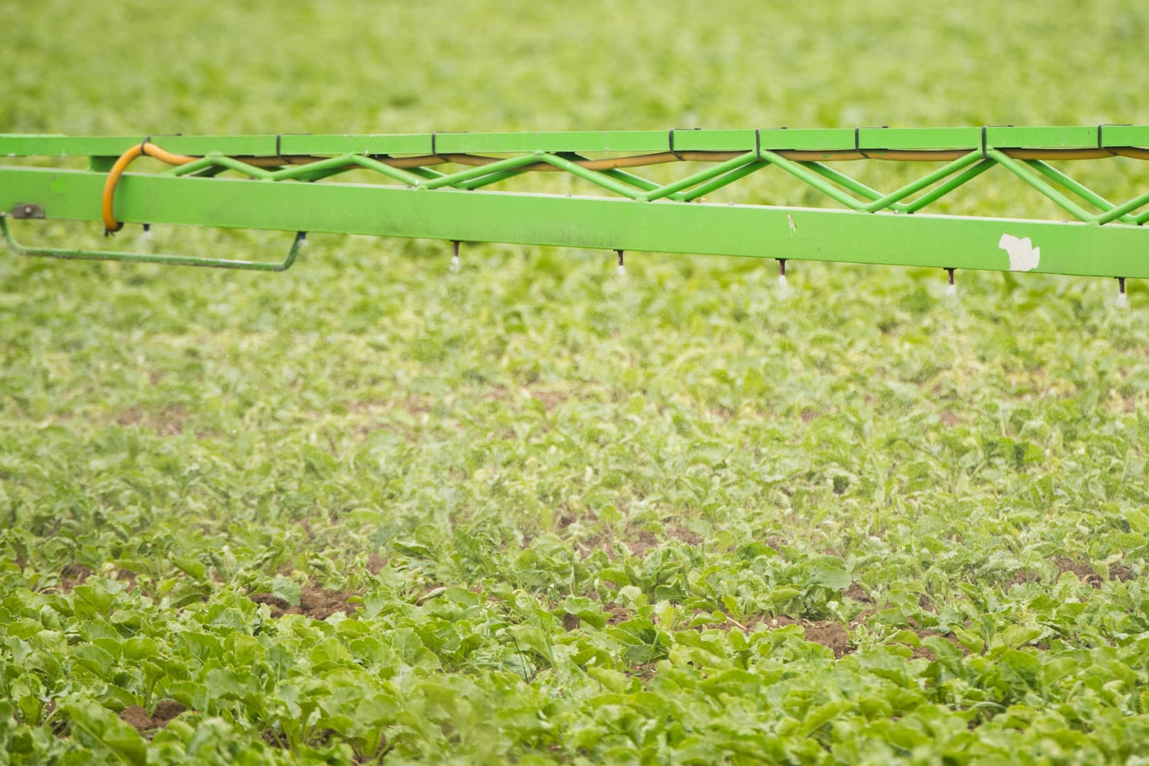
[{"label": "entire green sprayer boom with lattice struts and orange hose", "polygon": [[[149,163],[156,172],[124,172],[140,155],[162,164]],[[455,242],[456,255],[461,241],[514,242],[615,250],[619,263],[626,250],[646,250],[776,258],[784,270],[787,260],[935,266],[948,270],[950,280],[955,269],[1113,277],[1123,288],[1127,277],[1149,277],[1149,125],[0,134],[5,156],[87,157],[86,169],[29,160],[0,164],[0,226],[8,243],[30,256],[283,271],[306,232],[331,232],[441,239]],[[1104,161],[1132,172],[1125,187],[1132,184],[1134,195],[1111,202],[1059,161]],[[925,172],[882,192],[843,171],[874,162]],[[669,181],[637,175],[669,163],[687,170]],[[1062,219],[927,211],[956,189],[977,186],[974,179],[990,170],[1024,181],[1056,204]],[[337,180],[349,171],[353,178]],[[838,209],[703,199],[763,171],[796,179],[811,204],[820,200]],[[579,183],[514,191],[515,179],[542,172]],[[978,209],[1003,201],[997,198]],[[30,247],[13,235],[13,219],[22,218],[102,222],[106,233],[124,223],[298,233],[287,258],[269,263]]]}]

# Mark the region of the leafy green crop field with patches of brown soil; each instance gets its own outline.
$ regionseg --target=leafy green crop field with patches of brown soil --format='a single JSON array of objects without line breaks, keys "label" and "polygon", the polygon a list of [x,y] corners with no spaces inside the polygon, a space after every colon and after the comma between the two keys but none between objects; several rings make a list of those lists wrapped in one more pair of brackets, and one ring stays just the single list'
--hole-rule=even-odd
[{"label": "leafy green crop field with patches of brown soil", "polygon": [[[1149,124],[1135,0],[0,10],[9,133]],[[449,258],[0,252],[0,764],[1149,764],[1143,284]]]}]

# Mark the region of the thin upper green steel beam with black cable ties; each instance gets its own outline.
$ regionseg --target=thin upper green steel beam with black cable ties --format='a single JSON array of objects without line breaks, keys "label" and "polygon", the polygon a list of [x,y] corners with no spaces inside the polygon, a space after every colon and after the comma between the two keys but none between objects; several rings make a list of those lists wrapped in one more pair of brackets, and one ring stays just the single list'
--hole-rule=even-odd
[{"label": "thin upper green steel beam with black cable ties", "polygon": [[[118,156],[146,136],[17,136],[0,134],[3,156]],[[152,140],[176,154],[229,156],[277,155],[423,155],[518,154],[545,152],[654,153],[749,152],[802,149],[840,152],[996,148],[1149,147],[1149,125],[987,126],[987,127],[830,127],[673,131],[570,131],[510,133],[377,133],[268,136],[160,134]]]}]

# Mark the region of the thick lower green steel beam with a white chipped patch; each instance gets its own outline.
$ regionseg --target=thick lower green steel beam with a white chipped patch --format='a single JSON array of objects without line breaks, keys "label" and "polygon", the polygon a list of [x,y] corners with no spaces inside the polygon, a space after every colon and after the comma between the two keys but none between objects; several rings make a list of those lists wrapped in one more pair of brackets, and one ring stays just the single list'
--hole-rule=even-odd
[{"label": "thick lower green steel beam with a white chipped patch", "polygon": [[[0,169],[0,210],[36,204],[48,218],[99,220],[103,183],[90,171]],[[1149,277],[1149,229],[1120,223],[133,173],[121,181],[116,210],[129,223]],[[13,223],[21,238],[34,237],[34,222]]]}]

